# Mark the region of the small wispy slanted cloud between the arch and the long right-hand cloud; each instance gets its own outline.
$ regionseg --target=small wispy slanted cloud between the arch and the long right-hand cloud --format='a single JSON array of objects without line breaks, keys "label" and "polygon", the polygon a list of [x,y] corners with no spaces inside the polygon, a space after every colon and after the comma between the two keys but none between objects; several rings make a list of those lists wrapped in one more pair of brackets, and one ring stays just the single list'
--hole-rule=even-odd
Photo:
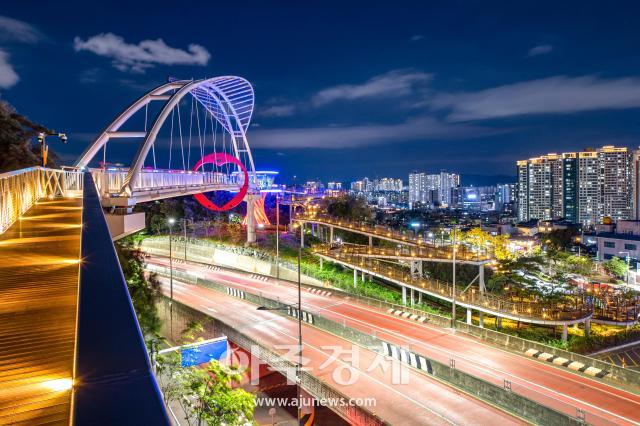
[{"label": "small wispy slanted cloud between the arch and the long right-hand cloud", "polygon": [[431,78],[431,74],[419,71],[393,70],[362,84],[342,84],[323,89],[311,101],[314,106],[322,106],[340,100],[404,96]]}]

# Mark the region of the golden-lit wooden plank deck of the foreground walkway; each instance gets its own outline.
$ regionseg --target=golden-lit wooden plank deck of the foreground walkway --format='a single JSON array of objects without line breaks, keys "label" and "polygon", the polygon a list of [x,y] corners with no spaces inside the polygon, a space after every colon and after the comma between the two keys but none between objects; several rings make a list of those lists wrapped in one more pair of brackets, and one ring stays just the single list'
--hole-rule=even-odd
[{"label": "golden-lit wooden plank deck of the foreground walkway", "polygon": [[43,200],[0,236],[0,424],[69,424],[82,200]]}]

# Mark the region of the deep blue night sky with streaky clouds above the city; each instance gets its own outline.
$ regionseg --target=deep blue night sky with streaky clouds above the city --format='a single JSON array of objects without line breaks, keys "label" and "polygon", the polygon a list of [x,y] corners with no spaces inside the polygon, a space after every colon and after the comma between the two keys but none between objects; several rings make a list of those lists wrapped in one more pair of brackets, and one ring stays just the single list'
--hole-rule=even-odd
[{"label": "deep blue night sky with streaky clouds above the city", "polygon": [[43,2],[0,6],[0,97],[69,163],[167,76],[239,75],[283,178],[504,180],[515,160],[640,144],[638,2]]}]

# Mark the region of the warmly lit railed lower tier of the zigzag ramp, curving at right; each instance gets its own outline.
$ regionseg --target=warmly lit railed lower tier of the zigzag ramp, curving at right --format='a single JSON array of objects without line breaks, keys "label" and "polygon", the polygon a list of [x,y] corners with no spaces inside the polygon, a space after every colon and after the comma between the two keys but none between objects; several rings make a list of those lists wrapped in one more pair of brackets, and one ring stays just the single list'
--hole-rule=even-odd
[{"label": "warmly lit railed lower tier of the zigzag ramp, curving at right", "polygon": [[[452,284],[424,277],[417,277],[401,265],[383,262],[378,259],[366,258],[340,250],[329,250],[316,247],[314,251],[324,257],[335,259],[353,268],[374,272],[383,278],[404,283],[418,289],[423,289],[435,297],[451,300]],[[482,311],[502,312],[509,317],[522,320],[538,321],[576,321],[589,317],[593,308],[587,299],[567,298],[562,302],[543,302],[534,300],[515,301],[509,298],[481,293],[475,288],[464,291],[456,286],[458,303],[471,305]]]}]

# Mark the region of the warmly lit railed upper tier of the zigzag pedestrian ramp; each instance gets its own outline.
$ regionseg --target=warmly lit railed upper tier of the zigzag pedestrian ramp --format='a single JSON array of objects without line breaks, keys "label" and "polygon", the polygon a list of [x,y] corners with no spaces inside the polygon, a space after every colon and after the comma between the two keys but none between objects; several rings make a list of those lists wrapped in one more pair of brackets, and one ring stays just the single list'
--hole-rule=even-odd
[{"label": "warmly lit railed upper tier of the zigzag pedestrian ramp", "polygon": [[[293,220],[298,222],[319,223],[336,228],[345,229],[349,232],[355,232],[362,235],[370,235],[375,238],[397,242],[400,245],[409,245],[413,247],[422,247],[425,250],[433,250],[434,254],[439,254],[445,258],[451,257],[451,244],[438,245],[434,241],[430,241],[422,234],[410,235],[410,233],[397,231],[381,225],[371,225],[364,222],[349,221],[345,219],[337,219],[335,217],[318,214],[315,212],[297,214]],[[490,251],[473,250],[464,244],[458,244],[456,250],[457,256],[468,258],[469,260],[485,261],[492,259]]]}]

